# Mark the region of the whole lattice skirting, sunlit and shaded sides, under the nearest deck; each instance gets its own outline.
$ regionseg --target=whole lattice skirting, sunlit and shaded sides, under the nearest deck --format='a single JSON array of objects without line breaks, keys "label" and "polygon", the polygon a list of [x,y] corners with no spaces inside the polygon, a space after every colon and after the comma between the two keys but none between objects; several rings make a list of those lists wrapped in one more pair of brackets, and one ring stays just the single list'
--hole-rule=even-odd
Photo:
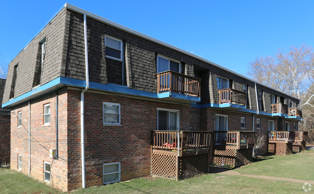
[{"label": "whole lattice skirting, sunlit and shaded sides, under the nearest deck", "polygon": [[152,175],[177,179],[178,170],[178,179],[185,179],[196,174],[208,173],[208,154],[178,157],[177,152],[154,151],[151,164]]}]

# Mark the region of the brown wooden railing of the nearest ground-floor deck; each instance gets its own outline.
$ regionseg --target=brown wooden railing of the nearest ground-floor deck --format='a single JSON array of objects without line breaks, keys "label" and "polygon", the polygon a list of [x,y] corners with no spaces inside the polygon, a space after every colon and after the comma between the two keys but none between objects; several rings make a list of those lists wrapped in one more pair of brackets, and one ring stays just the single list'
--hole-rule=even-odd
[{"label": "brown wooden railing of the nearest ground-floor deck", "polygon": [[212,132],[152,131],[152,148],[170,150],[198,150],[209,148]]}]

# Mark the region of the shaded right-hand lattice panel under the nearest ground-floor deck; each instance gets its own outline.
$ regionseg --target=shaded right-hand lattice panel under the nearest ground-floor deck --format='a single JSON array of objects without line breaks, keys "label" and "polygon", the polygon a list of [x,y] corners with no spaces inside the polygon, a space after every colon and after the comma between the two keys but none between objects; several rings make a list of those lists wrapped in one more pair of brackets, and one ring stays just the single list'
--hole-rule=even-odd
[{"label": "shaded right-hand lattice panel under the nearest ground-floor deck", "polygon": [[208,173],[208,154],[179,157],[179,179]]}]

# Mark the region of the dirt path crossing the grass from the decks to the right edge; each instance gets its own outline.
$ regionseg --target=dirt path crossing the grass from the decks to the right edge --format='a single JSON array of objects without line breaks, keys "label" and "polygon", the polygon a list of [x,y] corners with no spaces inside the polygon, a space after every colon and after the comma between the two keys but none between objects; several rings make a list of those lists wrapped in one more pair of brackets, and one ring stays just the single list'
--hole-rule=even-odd
[{"label": "dirt path crossing the grass from the decks to the right edge", "polygon": [[314,185],[314,181],[307,181],[307,180],[300,180],[300,179],[291,179],[291,178],[283,178],[283,177],[277,177],[277,176],[265,176],[265,175],[251,175],[251,174],[244,174],[241,172],[237,172],[235,170],[230,170],[226,168],[221,167],[209,167],[209,172],[214,174],[221,174],[221,175],[238,175],[238,176],[246,176],[246,177],[253,177],[258,179],[268,179],[268,180],[276,180],[276,181],[289,181],[289,182],[295,182],[295,183],[310,183],[311,185]]}]

